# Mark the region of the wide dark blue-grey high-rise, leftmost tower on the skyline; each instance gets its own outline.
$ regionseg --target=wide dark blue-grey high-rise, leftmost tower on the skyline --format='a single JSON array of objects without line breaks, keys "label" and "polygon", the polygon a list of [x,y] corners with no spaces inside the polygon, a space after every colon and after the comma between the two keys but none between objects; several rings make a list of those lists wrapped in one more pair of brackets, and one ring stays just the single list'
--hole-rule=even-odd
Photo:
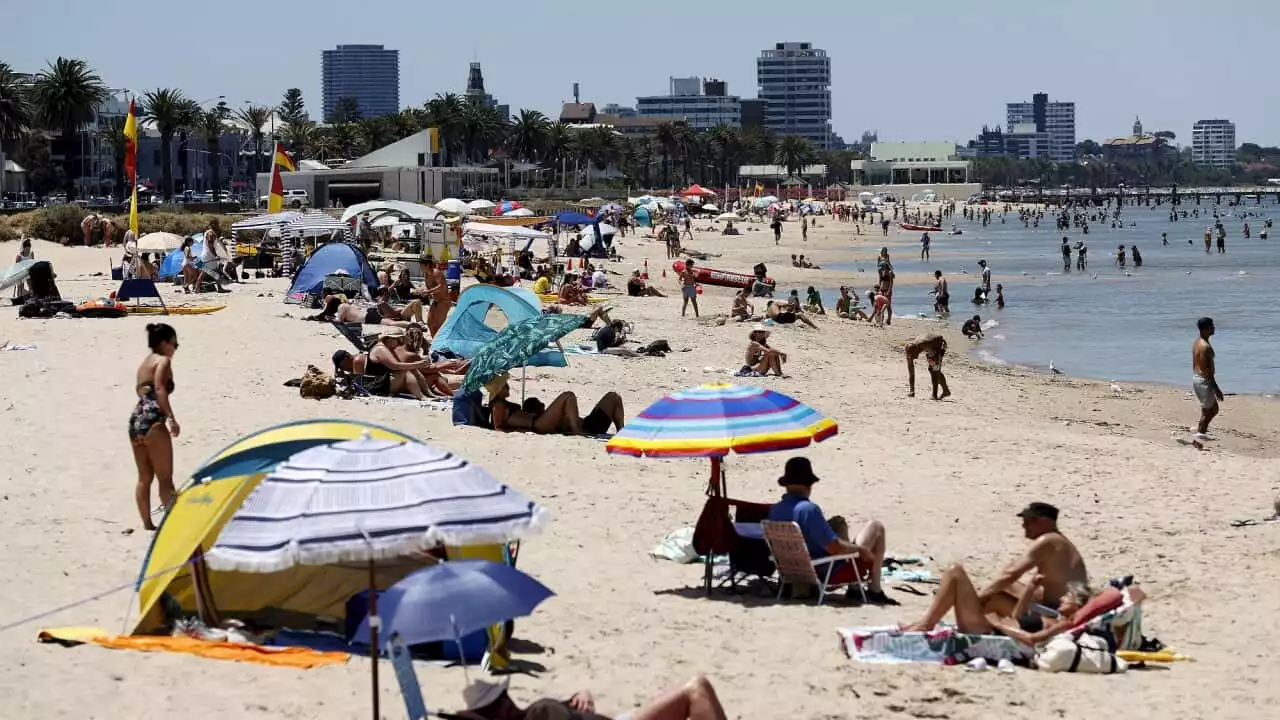
[{"label": "wide dark blue-grey high-rise, leftmost tower on the skyline", "polygon": [[321,110],[328,120],[338,102],[355,99],[362,118],[399,113],[399,50],[381,45],[339,45],[321,58]]}]

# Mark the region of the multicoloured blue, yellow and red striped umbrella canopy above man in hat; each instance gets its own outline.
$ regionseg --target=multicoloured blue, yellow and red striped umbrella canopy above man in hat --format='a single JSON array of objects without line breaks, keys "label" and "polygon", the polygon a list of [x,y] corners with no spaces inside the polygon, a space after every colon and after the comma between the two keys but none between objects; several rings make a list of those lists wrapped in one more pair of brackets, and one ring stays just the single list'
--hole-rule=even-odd
[{"label": "multicoloured blue, yellow and red striped umbrella canopy above man in hat", "polygon": [[668,395],[627,421],[608,452],[723,457],[805,447],[836,434],[836,421],[790,396],[755,386],[705,384]]}]

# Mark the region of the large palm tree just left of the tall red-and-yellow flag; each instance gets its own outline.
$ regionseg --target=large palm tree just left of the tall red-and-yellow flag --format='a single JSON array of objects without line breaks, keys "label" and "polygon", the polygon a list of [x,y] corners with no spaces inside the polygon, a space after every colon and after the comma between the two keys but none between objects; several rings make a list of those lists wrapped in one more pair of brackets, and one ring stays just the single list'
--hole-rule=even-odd
[{"label": "large palm tree just left of the tall red-and-yellow flag", "polygon": [[36,77],[32,104],[36,117],[49,129],[61,133],[63,174],[67,199],[76,197],[76,159],[79,129],[93,120],[106,100],[102,78],[84,60],[58,58]]}]

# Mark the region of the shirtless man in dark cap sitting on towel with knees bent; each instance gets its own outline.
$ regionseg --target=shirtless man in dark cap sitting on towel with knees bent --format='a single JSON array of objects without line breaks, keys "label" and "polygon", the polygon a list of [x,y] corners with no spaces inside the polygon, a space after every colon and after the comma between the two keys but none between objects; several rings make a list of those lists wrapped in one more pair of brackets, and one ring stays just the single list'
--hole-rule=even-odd
[{"label": "shirtless man in dark cap sitting on towel with knees bent", "polygon": [[[1023,533],[1032,541],[1027,553],[1010,564],[1000,578],[982,592],[974,589],[964,566],[954,565],[942,575],[942,584],[933,596],[933,603],[924,616],[904,630],[932,630],[947,611],[955,610],[956,626],[963,633],[991,632],[988,614],[1014,618],[1021,597],[1030,592],[1030,602],[1038,602],[1062,614],[1068,610],[1069,585],[1088,587],[1089,573],[1080,552],[1057,529],[1057,507],[1047,502],[1032,502],[1018,514],[1023,519]],[[1036,570],[1041,575],[1038,589],[1028,591],[1019,579]],[[1025,609],[1024,609],[1025,610]],[[1043,629],[1038,614],[1014,618],[1027,632]]]}]

